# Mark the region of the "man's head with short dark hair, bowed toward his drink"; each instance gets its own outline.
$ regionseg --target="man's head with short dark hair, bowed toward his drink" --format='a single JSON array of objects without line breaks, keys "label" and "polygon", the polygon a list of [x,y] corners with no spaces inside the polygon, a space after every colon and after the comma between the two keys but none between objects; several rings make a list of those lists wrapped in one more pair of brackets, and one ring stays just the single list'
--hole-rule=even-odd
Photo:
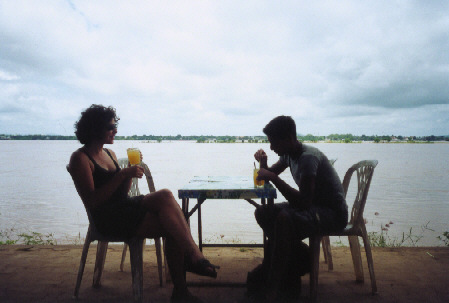
[{"label": "man's head with short dark hair, bowed toward his drink", "polygon": [[278,155],[294,152],[296,139],[296,124],[290,116],[278,116],[271,120],[263,129],[270,141],[270,148]]}]

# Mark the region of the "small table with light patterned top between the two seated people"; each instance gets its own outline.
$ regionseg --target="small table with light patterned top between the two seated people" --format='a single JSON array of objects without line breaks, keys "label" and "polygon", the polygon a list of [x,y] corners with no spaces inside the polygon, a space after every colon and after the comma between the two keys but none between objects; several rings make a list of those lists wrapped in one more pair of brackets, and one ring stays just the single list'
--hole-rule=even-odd
[{"label": "small table with light patterned top between the two seated people", "polygon": [[[252,177],[241,176],[206,176],[194,177],[183,188],[178,190],[178,196],[182,199],[182,211],[189,222],[190,216],[198,211],[198,247],[203,251],[203,247],[265,247],[264,244],[203,244],[201,227],[201,204],[206,199],[261,199],[261,204],[274,204],[277,197],[276,189],[270,183],[265,182],[263,187],[254,187]],[[196,205],[189,211],[189,199],[197,199]],[[254,204],[251,201],[248,201]],[[250,218],[248,218],[249,220]]]}]

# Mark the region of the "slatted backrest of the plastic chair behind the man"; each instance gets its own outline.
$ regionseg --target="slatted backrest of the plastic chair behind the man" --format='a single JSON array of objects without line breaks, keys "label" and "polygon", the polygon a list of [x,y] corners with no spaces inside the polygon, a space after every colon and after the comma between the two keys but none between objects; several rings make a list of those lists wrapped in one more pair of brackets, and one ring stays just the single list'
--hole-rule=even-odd
[{"label": "slatted backrest of the plastic chair behind the man", "polygon": [[343,179],[343,189],[345,196],[348,193],[349,182],[354,171],[357,172],[357,193],[351,211],[350,224],[357,226],[363,222],[363,211],[365,209],[368,191],[373,177],[374,168],[377,166],[377,160],[364,160],[351,166]]}]

